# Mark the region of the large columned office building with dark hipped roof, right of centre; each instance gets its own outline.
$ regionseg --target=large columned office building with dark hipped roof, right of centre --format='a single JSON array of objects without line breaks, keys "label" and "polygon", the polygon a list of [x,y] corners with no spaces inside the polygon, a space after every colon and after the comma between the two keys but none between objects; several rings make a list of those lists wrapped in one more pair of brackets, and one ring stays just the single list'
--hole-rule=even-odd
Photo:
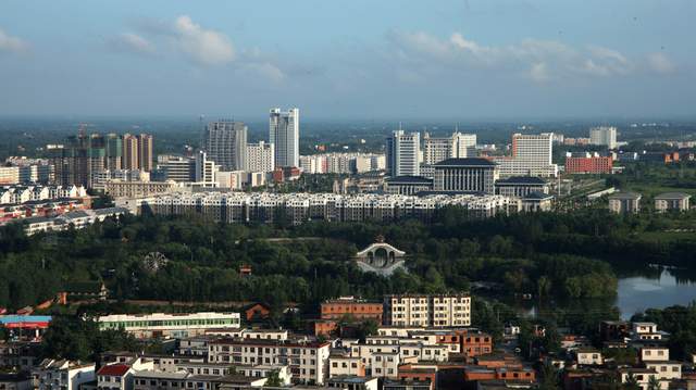
[{"label": "large columned office building with dark hipped roof, right of centre", "polygon": [[435,164],[435,191],[495,193],[496,163],[481,158],[447,159]]}]

